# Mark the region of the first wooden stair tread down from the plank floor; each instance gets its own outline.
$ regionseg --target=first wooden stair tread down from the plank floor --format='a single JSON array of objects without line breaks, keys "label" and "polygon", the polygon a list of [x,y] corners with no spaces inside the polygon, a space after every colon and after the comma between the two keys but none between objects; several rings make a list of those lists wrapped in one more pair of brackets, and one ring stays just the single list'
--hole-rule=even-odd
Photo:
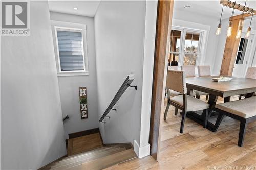
[{"label": "first wooden stair tread down from the plank floor", "polygon": [[51,169],[54,170],[64,170],[64,169],[69,169],[71,167],[83,164],[83,163],[87,163],[90,161],[93,161],[95,159],[99,159],[108,155],[112,155],[118,152],[122,152],[125,151],[125,148],[111,148],[111,150],[108,151],[104,151],[102,153],[97,153],[97,154],[91,154],[91,155],[87,155],[86,157],[81,157],[79,159],[75,159],[75,160],[70,160],[70,161],[66,161],[66,162],[61,162],[56,164],[55,166],[52,166]]}]

